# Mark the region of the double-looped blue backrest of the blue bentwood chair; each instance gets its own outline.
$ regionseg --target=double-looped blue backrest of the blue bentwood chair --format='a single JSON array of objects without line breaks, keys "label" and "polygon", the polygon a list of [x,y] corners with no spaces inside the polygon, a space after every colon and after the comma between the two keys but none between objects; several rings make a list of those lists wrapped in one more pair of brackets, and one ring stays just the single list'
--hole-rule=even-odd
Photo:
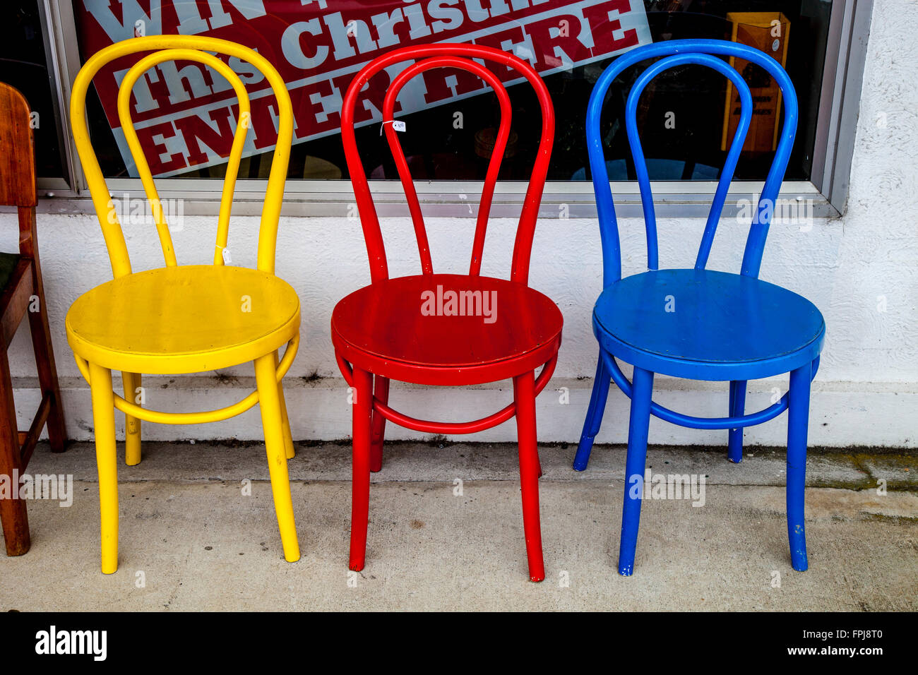
[{"label": "double-looped blue backrest of the blue bentwood chair", "polygon": [[698,258],[695,267],[703,269],[708,263],[711,253],[711,243],[717,231],[717,222],[721,218],[723,202],[727,197],[730,181],[743,150],[746,132],[752,119],[753,103],[749,86],[743,77],[728,62],[720,56],[733,56],[764,68],[767,73],[775,78],[781,89],[784,99],[784,125],[778,140],[778,149],[775,158],[768,170],[765,186],[759,197],[754,217],[746,239],[743,254],[741,274],[745,276],[758,276],[762,264],[762,251],[768,235],[768,225],[774,213],[778,190],[784,179],[784,172],[788,167],[790,149],[794,144],[797,133],[797,93],[791,84],[788,73],[781,65],[764,51],[756,50],[736,42],[727,42],[722,39],[674,39],[666,42],[638,47],[618,57],[615,62],[599,76],[593,93],[589,97],[587,107],[587,147],[589,153],[589,166],[593,174],[593,189],[596,193],[596,206],[599,211],[599,231],[602,237],[603,261],[603,287],[608,287],[621,279],[621,247],[619,243],[618,222],[615,219],[615,206],[612,203],[612,192],[609,185],[609,174],[603,153],[602,137],[599,129],[599,117],[602,113],[602,104],[605,101],[609,87],[616,77],[625,69],[635,63],[656,57],[665,57],[653,63],[634,83],[628,100],[625,104],[625,127],[628,132],[628,142],[631,146],[634,160],[634,170],[637,174],[638,185],[641,188],[641,204],[644,207],[644,223],[647,229],[647,267],[657,269],[656,248],[656,216],[654,212],[654,196],[650,191],[650,179],[647,175],[647,163],[641,149],[641,140],[637,134],[637,104],[644,87],[654,77],[663,71],[678,65],[699,63],[708,66],[726,76],[736,87],[740,95],[742,109],[739,124],[733,134],[730,151],[727,152],[726,162],[723,164],[721,179],[714,193],[711,203],[711,212],[708,222],[701,237]]}]

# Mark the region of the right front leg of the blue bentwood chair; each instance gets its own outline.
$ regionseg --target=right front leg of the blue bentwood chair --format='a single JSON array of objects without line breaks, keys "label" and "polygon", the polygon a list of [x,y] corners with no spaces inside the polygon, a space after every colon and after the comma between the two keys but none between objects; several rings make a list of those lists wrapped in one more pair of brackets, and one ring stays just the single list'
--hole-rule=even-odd
[{"label": "right front leg of the blue bentwood chair", "polygon": [[812,365],[790,373],[788,405],[788,539],[790,564],[798,572],[809,567],[806,529],[803,523],[803,494],[806,485],[806,444],[810,423]]}]

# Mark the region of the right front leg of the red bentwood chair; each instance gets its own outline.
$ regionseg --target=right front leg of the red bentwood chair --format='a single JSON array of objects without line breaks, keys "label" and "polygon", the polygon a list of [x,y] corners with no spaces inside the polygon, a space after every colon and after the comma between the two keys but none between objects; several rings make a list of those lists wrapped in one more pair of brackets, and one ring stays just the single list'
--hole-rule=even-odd
[{"label": "right front leg of the red bentwood chair", "polygon": [[522,492],[522,525],[526,535],[526,557],[529,579],[545,578],[542,557],[542,525],[539,522],[539,451],[536,445],[535,377],[532,371],[513,378],[516,401],[517,436],[520,447],[520,486]]}]

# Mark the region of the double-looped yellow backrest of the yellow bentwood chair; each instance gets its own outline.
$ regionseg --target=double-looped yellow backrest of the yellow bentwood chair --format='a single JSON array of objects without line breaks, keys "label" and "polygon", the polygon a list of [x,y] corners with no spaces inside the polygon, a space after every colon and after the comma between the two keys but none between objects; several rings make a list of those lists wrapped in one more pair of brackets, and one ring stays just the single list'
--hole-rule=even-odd
[{"label": "double-looped yellow backrest of the yellow bentwood chair", "polygon": [[177,264],[173,250],[172,236],[169,226],[165,221],[162,201],[153,184],[150,165],[147,163],[137,132],[134,130],[130,118],[130,94],[134,84],[153,66],[166,61],[196,61],[204,63],[222,75],[239,99],[239,120],[233,136],[232,147],[229,152],[226,179],[223,184],[223,193],[220,199],[220,211],[217,227],[217,247],[214,253],[214,264],[223,264],[223,249],[227,246],[229,237],[229,211],[232,208],[233,190],[239,174],[239,165],[242,148],[245,144],[245,134],[251,126],[249,119],[251,109],[249,96],[239,75],[233,73],[229,66],[220,61],[211,53],[234,56],[242,61],[249,62],[257,68],[267,79],[277,98],[277,144],[274,147],[274,159],[271,163],[271,173],[268,175],[268,186],[264,195],[262,208],[262,221],[258,232],[258,260],[257,267],[265,272],[274,274],[274,251],[277,242],[277,221],[280,218],[281,203],[284,199],[284,183],[286,179],[287,163],[290,160],[290,142],[293,139],[293,107],[290,104],[290,95],[280,74],[263,56],[241,44],[225,39],[206,38],[195,35],[151,35],[143,38],[131,38],[116,42],[104,50],[96,52],[87,60],[80,73],[73,82],[73,94],[70,99],[70,121],[73,129],[73,141],[83,163],[86,183],[93,199],[95,213],[105,236],[108,256],[111,259],[112,273],[118,276],[129,275],[130,259],[128,248],[125,245],[124,232],[118,221],[118,213],[111,193],[108,191],[106,179],[102,175],[95,150],[89,141],[89,128],[86,123],[86,91],[95,74],[102,66],[127,54],[139,51],[152,51],[143,57],[125,75],[118,88],[118,119],[128,142],[130,153],[140,173],[144,192],[150,201],[156,230],[159,233],[162,255],[167,266]]}]

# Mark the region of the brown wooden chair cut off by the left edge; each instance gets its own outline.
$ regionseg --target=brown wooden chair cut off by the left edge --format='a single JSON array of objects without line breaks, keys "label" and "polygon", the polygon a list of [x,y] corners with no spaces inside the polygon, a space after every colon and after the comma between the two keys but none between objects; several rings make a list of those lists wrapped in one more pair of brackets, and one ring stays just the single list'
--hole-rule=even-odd
[{"label": "brown wooden chair cut off by the left edge", "polygon": [[[29,125],[28,103],[9,84],[0,83],[0,205],[17,207],[19,215],[19,253],[0,253],[0,325],[3,349],[0,350],[0,477],[6,477],[12,488],[14,476],[22,475],[48,424],[51,451],[61,453],[67,442],[63,423],[61,388],[58,386],[54,351],[48,328],[48,309],[41,284],[39,241],[35,227],[35,152]],[[41,403],[28,428],[17,431],[13,384],[9,374],[6,349],[19,323],[28,313],[32,348],[39,370]],[[26,502],[0,497],[0,521],[6,541],[7,556],[21,556],[28,551]]]}]

